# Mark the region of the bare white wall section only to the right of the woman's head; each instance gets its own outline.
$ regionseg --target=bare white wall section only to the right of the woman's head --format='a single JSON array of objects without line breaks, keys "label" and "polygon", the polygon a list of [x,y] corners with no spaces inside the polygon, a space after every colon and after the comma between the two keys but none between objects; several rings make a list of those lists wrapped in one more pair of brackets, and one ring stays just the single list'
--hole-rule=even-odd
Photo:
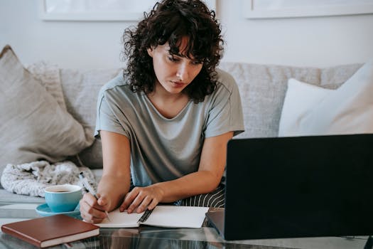
[{"label": "bare white wall section only to the right of the woman's head", "polygon": [[373,58],[373,14],[253,20],[242,17],[243,1],[220,1],[225,60],[328,66]]}]

